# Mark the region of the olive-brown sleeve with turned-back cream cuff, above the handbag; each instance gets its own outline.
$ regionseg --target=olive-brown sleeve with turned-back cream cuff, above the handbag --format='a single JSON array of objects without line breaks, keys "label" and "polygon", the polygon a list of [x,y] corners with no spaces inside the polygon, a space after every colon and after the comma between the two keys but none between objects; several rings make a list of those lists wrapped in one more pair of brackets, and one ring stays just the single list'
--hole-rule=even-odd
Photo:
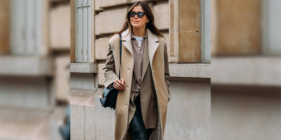
[{"label": "olive-brown sleeve with turned-back cream cuff, above the handbag", "polygon": [[113,86],[114,81],[118,78],[115,72],[115,63],[112,48],[109,45],[108,54],[106,56],[106,63],[103,67],[104,74],[104,87],[110,88]]}]

